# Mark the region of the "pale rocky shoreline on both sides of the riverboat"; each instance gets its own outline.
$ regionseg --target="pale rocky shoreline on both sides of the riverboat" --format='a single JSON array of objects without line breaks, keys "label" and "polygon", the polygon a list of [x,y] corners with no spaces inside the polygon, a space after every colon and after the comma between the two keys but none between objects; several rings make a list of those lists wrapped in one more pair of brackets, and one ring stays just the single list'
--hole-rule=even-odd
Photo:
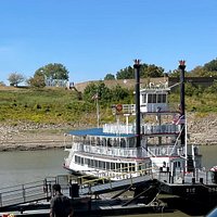
[{"label": "pale rocky shoreline on both sides of the riverboat", "polygon": [[[0,151],[27,151],[46,149],[64,149],[71,144],[65,132],[87,125],[44,125],[20,123],[15,126],[0,124]],[[190,142],[202,145],[217,144],[217,114],[197,117],[188,114],[188,133]]]}]

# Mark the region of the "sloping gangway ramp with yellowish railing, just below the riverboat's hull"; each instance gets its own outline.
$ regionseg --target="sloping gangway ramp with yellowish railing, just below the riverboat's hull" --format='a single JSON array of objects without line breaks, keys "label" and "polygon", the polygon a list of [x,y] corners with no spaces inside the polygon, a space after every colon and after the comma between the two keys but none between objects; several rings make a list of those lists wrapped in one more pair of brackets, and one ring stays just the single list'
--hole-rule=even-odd
[{"label": "sloping gangway ramp with yellowish railing, just below the riverboat's hull", "polygon": [[113,191],[124,190],[124,189],[129,188],[130,186],[131,188],[136,188],[139,184],[146,182],[149,180],[152,180],[151,175],[131,177],[128,179],[123,179],[118,181],[110,181],[106,183],[95,183],[94,186],[92,186],[91,182],[86,182],[86,184],[80,187],[79,195],[87,195],[87,194],[99,195],[99,194],[110,193]]}]

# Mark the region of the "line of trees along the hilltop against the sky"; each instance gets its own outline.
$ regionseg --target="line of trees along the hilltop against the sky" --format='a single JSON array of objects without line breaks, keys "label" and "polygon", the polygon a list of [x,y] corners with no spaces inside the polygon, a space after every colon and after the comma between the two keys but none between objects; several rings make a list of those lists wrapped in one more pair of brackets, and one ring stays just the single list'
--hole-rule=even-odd
[{"label": "line of trees along the hilltop against the sky", "polygon": [[[18,84],[26,81],[29,87],[43,88],[46,87],[46,80],[66,80],[69,78],[68,69],[60,63],[50,63],[48,65],[39,67],[33,77],[25,79],[25,76],[21,73],[11,73],[8,77],[10,86],[17,87]],[[148,77],[178,77],[179,71],[174,69],[165,73],[164,68],[161,66],[156,66],[154,64],[142,64],[140,71],[141,78]],[[190,72],[186,72],[186,76],[189,77],[210,77],[217,76],[217,59],[205,63],[203,66],[196,66]],[[116,75],[106,74],[104,80],[114,80],[114,79],[132,79],[135,78],[133,67],[127,66],[125,68],[119,69]],[[3,82],[0,82],[3,85]]]}]

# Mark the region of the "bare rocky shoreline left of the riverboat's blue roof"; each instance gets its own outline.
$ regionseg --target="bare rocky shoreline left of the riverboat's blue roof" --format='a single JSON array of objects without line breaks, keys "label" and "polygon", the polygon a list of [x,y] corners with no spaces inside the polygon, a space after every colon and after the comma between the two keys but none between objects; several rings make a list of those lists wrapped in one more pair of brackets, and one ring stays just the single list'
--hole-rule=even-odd
[{"label": "bare rocky shoreline left of the riverboat's blue roof", "polygon": [[63,149],[69,138],[64,136],[72,126],[22,123],[16,126],[0,125],[0,151],[34,151]]}]

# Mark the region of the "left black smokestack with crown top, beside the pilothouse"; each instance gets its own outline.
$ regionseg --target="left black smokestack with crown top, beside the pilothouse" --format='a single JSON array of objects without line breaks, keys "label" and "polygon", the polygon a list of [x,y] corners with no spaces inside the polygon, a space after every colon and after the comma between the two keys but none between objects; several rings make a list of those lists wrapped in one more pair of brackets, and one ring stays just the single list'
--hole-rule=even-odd
[{"label": "left black smokestack with crown top, beside the pilothouse", "polygon": [[136,78],[136,136],[137,136],[137,148],[141,146],[140,138],[140,60],[135,60],[135,78]]}]

